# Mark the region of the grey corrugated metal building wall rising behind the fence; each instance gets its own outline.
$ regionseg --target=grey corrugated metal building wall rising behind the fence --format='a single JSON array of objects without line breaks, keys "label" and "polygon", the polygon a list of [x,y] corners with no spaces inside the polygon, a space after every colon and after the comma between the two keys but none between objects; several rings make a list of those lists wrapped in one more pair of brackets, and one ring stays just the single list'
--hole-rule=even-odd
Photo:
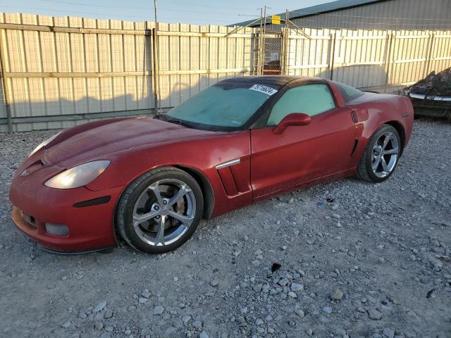
[{"label": "grey corrugated metal building wall rising behind the fence", "polygon": [[388,0],[330,13],[294,18],[299,27],[352,30],[451,30],[450,0]]}]

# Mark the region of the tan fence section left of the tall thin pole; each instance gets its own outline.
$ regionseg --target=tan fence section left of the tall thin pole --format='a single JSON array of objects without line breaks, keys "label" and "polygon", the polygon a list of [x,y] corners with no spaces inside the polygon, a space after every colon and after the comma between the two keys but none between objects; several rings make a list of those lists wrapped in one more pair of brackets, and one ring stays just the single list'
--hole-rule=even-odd
[{"label": "tan fence section left of the tall thin pole", "polygon": [[[147,95],[152,92],[152,49],[144,35],[146,23],[6,13],[0,22],[36,25],[1,30],[14,131],[71,127],[114,111],[154,107]],[[107,34],[52,27],[103,29]],[[113,29],[131,34],[108,34]]]}]

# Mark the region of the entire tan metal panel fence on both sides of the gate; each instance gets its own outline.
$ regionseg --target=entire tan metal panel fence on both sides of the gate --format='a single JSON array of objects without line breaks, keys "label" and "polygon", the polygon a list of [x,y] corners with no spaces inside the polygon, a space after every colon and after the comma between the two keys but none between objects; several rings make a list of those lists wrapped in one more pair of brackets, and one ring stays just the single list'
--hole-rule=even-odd
[{"label": "entire tan metal panel fence on both sides of the gate", "polygon": [[[157,46],[154,28],[0,13],[0,132],[167,111],[218,80],[264,69],[257,29],[160,23]],[[281,73],[386,91],[451,66],[449,31],[304,33],[280,34]]]}]

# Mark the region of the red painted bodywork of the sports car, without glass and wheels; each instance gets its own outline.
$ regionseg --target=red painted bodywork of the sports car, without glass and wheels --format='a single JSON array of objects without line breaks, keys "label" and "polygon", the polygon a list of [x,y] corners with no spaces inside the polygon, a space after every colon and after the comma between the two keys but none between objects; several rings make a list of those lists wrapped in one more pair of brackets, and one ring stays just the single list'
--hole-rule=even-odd
[{"label": "red painted bodywork of the sports car, without glass and wheels", "polygon": [[[114,218],[121,193],[152,168],[175,165],[202,177],[204,194],[212,193],[204,217],[213,218],[280,192],[354,175],[371,134],[384,123],[394,125],[407,145],[414,117],[409,99],[366,93],[345,104],[333,82],[318,81],[329,85],[337,107],[282,134],[274,134],[274,127],[210,132],[152,117],[101,120],[65,130],[18,168],[10,191],[14,223],[54,251],[101,249],[116,245]],[[216,169],[236,158],[239,165]],[[95,160],[111,165],[85,187],[44,186],[57,173]],[[27,175],[20,175],[25,169]],[[111,199],[74,206],[102,196]],[[25,222],[23,213],[35,219],[35,226]],[[67,225],[69,234],[47,234],[44,223]]]}]

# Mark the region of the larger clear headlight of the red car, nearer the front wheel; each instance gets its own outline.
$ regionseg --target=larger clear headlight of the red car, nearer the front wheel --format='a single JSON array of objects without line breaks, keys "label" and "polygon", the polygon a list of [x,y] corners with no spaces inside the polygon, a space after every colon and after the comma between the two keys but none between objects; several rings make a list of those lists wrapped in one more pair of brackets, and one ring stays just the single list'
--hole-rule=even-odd
[{"label": "larger clear headlight of the red car, nearer the front wheel", "polygon": [[73,189],[92,182],[105,171],[110,161],[92,161],[77,165],[51,177],[44,184],[55,189]]}]

